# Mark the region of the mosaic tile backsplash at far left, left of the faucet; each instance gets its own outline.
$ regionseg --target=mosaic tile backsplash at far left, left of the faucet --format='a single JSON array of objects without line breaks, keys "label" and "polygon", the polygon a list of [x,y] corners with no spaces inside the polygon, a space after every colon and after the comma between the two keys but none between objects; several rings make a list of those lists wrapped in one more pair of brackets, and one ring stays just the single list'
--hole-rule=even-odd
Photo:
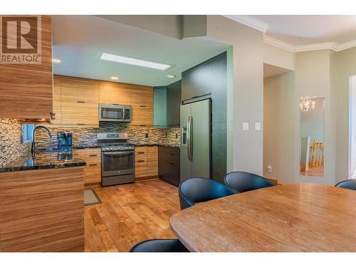
[{"label": "mosaic tile backsplash at far left, left of the faucet", "polygon": [[22,142],[20,120],[0,117],[0,167],[31,151],[31,142]]}]

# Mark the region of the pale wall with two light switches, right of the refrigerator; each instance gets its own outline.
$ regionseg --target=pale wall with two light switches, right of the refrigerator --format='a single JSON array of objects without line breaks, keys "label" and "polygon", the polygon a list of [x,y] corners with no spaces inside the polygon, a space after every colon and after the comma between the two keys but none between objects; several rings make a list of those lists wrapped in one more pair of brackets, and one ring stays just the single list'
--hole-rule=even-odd
[{"label": "pale wall with two light switches, right of the refrigerator", "polygon": [[[263,33],[223,16],[207,16],[206,33],[226,43],[231,43],[233,87],[228,93],[228,166],[262,174],[263,172]],[[232,68],[232,69],[231,69]],[[229,74],[228,74],[229,77]],[[232,92],[231,92],[232,90]],[[249,123],[249,130],[242,131],[242,122]],[[261,122],[261,130],[254,130],[255,122]],[[229,135],[232,132],[232,140]]]}]

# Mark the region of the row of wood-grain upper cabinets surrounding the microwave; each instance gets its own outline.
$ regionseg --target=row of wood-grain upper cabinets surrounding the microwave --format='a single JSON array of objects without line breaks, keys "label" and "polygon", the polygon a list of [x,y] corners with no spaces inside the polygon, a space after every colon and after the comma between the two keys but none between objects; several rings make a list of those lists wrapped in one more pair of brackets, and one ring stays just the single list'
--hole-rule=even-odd
[{"label": "row of wood-grain upper cabinets surrounding the microwave", "polygon": [[53,124],[98,127],[100,103],[131,105],[132,126],[153,126],[152,87],[54,75]]}]

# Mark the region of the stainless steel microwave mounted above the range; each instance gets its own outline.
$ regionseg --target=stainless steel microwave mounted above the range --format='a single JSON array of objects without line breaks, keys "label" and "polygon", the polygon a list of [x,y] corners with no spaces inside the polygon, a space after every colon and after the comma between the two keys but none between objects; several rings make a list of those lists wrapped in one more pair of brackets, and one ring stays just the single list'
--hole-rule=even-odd
[{"label": "stainless steel microwave mounted above the range", "polygon": [[130,122],[130,105],[99,105],[100,122]]}]

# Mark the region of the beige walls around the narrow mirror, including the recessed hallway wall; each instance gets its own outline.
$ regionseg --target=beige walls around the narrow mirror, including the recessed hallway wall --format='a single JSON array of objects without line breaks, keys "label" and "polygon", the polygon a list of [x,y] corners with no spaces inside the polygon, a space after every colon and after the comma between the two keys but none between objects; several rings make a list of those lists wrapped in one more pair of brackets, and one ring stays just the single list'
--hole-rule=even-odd
[{"label": "beige walls around the narrow mirror, including the recessed hallway wall", "polygon": [[[295,71],[266,78],[264,85],[266,132],[264,132],[263,140],[263,174],[271,175],[281,183],[335,184],[336,53],[330,50],[295,53]],[[299,172],[299,100],[300,97],[305,96],[325,96],[325,173],[323,177],[301,176]],[[293,164],[292,161],[294,161]],[[272,164],[272,174],[266,172],[268,164]]]}]

